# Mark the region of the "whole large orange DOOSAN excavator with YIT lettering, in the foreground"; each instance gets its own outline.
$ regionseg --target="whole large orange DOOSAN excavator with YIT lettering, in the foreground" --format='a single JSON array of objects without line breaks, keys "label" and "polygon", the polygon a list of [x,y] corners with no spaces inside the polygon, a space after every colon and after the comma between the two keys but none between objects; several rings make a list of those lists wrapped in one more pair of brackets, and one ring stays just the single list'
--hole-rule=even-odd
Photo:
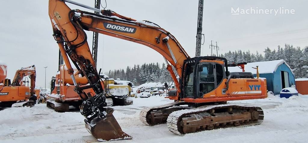
[{"label": "whole large orange DOOSAN excavator with YIT lettering, in the foreground", "polygon": [[[100,14],[70,9],[66,2]],[[175,90],[170,91],[167,98],[175,102],[142,110],[140,119],[146,125],[167,123],[172,133],[182,135],[229,126],[256,125],[264,118],[260,107],[227,104],[226,101],[265,98],[265,80],[254,79],[252,73],[230,73],[225,58],[190,58],[176,38],[155,23],[136,21],[111,10],[95,9],[71,0],[49,0],[49,17],[53,36],[74,82],[74,90],[83,100],[80,113],[86,118],[87,130],[98,141],[132,137],[121,130],[112,115],[113,109],[105,107],[105,88],[95,68],[85,30],[140,43],[163,55],[175,82]],[[89,85],[78,86],[69,58],[76,66],[77,74],[85,76]],[[179,81],[171,65],[179,74]],[[94,90],[94,96],[84,92],[88,88]]]}]

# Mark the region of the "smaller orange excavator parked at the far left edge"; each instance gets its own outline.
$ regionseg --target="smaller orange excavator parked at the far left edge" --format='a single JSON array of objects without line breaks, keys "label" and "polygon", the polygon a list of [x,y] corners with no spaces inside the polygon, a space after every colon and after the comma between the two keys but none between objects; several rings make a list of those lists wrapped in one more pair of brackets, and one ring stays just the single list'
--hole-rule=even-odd
[{"label": "smaller orange excavator parked at the far left edge", "polygon": [[[29,76],[30,78],[30,87],[25,86],[22,81],[26,76]],[[36,71],[35,66],[33,65],[17,70],[12,83],[10,79],[5,79],[4,83],[0,85],[0,106],[33,106],[37,100],[34,92],[35,76]]]}]

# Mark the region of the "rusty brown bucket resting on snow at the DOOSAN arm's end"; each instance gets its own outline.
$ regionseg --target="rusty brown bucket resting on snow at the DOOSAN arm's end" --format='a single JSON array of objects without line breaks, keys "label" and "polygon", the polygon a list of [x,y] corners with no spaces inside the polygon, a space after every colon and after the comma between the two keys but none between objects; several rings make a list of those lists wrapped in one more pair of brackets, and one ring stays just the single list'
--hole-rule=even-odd
[{"label": "rusty brown bucket resting on snow at the DOOSAN arm's end", "polygon": [[93,119],[91,123],[85,121],[87,130],[98,141],[114,141],[132,139],[132,136],[124,133],[112,115],[113,108],[106,108],[107,115],[105,118]]}]

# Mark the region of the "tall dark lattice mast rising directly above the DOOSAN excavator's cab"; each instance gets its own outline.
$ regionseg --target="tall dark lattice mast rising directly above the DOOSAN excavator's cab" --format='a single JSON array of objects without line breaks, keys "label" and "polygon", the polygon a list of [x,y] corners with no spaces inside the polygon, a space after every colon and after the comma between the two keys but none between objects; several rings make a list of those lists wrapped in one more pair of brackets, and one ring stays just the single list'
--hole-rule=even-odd
[{"label": "tall dark lattice mast rising directly above the DOOSAN excavator's cab", "polygon": [[197,22],[197,41],[196,41],[196,57],[200,56],[202,35],[202,19],[203,19],[203,0],[199,0],[198,5],[198,22]]}]

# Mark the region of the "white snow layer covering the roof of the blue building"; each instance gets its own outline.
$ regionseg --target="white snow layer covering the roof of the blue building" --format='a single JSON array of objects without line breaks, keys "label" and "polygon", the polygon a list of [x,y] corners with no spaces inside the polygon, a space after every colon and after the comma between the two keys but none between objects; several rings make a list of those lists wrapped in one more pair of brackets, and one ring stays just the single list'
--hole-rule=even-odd
[{"label": "white snow layer covering the roof of the blue building", "polygon": [[[280,66],[283,63],[290,68],[290,66],[284,60],[250,62],[247,63],[247,65],[245,65],[245,72],[251,72],[253,74],[257,74],[257,70],[253,69],[252,67],[259,66],[259,73],[274,73],[276,72],[278,66]],[[242,72],[242,69],[240,69],[239,67],[228,67],[228,70],[230,72]]]}]

